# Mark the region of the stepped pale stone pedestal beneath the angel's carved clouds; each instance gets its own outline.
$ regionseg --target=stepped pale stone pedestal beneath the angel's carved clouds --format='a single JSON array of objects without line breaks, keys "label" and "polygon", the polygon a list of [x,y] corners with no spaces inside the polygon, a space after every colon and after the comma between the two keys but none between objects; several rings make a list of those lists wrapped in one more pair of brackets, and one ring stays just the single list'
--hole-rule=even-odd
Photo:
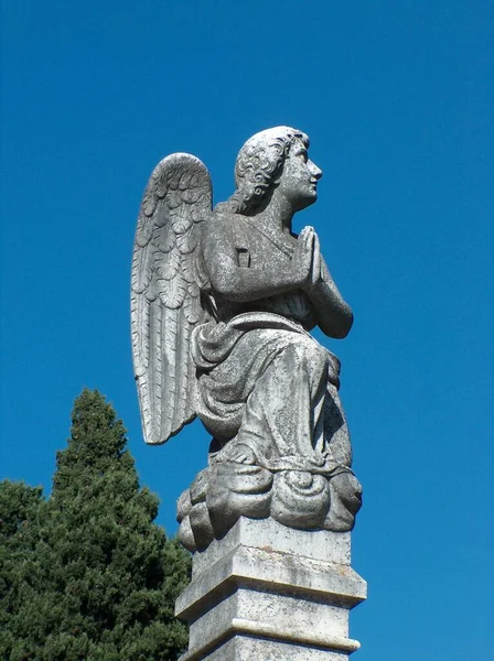
[{"label": "stepped pale stone pedestal beneath the angel's carved clouds", "polygon": [[351,608],[367,585],[350,566],[350,532],[240,518],[193,559],[175,614],[190,624],[180,661],[347,661]]}]

